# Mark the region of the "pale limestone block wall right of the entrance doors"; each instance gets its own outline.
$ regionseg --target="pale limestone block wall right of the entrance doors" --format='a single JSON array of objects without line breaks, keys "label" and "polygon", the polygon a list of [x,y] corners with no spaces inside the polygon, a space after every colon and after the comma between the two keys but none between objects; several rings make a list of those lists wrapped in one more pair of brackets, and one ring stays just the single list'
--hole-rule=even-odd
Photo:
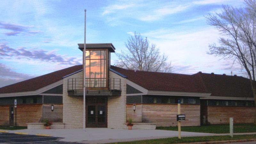
[{"label": "pale limestone block wall right of the entrance doors", "polygon": [[108,97],[108,128],[126,128],[126,79],[109,71],[109,78],[121,79],[121,96]]}]

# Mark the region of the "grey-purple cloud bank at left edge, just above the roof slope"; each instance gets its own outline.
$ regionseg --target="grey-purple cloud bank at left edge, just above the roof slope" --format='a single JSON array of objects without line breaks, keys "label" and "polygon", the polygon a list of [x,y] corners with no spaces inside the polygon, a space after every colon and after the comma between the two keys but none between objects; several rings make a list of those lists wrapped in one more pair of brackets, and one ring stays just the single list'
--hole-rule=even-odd
[{"label": "grey-purple cloud bank at left edge, just above the roof slope", "polygon": [[0,63],[0,87],[33,78],[31,75],[17,73]]}]

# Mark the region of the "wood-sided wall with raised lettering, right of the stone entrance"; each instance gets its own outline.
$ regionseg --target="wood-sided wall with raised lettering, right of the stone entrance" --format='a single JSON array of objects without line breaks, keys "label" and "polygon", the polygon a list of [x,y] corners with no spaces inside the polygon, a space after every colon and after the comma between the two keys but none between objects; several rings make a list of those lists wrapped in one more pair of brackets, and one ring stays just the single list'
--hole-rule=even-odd
[{"label": "wood-sided wall with raised lettering, right of the stone entrance", "polygon": [[[142,112],[140,112],[140,105],[136,104],[136,111],[134,113],[133,105],[127,104],[126,117],[131,117],[134,122],[156,123],[156,126],[178,125],[176,119],[178,113],[177,104],[142,104]],[[141,116],[140,113],[142,114]],[[181,105],[181,114],[186,115],[186,121],[181,122],[181,126],[200,125],[200,105],[183,104]]]}]

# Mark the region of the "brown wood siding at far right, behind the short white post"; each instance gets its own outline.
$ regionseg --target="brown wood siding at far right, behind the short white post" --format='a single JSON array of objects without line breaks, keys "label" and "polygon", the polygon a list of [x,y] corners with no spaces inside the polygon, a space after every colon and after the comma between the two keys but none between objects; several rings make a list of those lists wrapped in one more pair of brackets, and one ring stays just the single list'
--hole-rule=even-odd
[{"label": "brown wood siding at far right, behind the short white post", "polygon": [[253,123],[254,107],[208,106],[207,121],[210,124],[229,124],[229,117],[234,118],[234,123]]}]

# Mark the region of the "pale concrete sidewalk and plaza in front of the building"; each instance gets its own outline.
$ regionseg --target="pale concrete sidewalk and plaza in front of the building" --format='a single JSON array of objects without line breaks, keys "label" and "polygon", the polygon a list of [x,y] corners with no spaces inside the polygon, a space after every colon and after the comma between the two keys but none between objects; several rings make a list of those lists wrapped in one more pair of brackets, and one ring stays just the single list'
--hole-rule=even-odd
[{"label": "pale concrete sidewalk and plaza in front of the building", "polygon": [[[110,143],[110,142],[124,142],[134,140],[149,140],[177,137],[177,131],[166,130],[127,130],[127,129],[110,129],[110,128],[86,128],[86,132],[83,129],[24,129],[9,131],[25,132],[31,135],[37,133],[50,134],[53,137],[62,137],[61,141],[68,142],[80,142],[80,143]],[[256,134],[254,133],[234,133],[238,134]],[[214,136],[214,135],[228,135],[228,133],[214,134],[214,133],[199,133],[199,132],[181,132],[182,137],[190,136]]]}]

